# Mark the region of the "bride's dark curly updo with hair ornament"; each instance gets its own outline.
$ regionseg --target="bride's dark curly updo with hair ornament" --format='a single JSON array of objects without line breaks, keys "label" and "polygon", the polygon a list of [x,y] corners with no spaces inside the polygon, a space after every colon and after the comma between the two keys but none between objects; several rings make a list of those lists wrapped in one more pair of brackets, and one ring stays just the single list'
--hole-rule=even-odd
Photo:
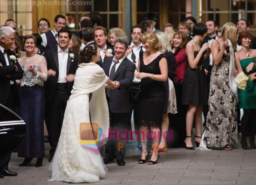
[{"label": "bride's dark curly updo with hair ornament", "polygon": [[88,44],[80,52],[79,63],[89,63],[94,55],[97,55],[98,48],[95,44]]}]

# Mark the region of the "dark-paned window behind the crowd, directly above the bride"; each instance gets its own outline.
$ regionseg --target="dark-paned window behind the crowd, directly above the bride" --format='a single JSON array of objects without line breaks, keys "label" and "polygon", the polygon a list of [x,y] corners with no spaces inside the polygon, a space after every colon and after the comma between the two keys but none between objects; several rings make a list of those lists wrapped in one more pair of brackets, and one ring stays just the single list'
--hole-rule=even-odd
[{"label": "dark-paned window behind the crowd, directly above the bride", "polygon": [[99,12],[102,25],[107,29],[121,27],[121,0],[71,0],[63,10],[64,15],[73,17],[74,29],[79,29],[78,22],[81,15],[89,12]]}]

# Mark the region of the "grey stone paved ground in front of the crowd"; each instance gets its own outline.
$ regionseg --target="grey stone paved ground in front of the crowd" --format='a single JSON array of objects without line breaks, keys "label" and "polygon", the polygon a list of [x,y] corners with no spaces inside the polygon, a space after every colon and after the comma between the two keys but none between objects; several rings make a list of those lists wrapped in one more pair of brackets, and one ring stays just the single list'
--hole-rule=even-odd
[{"label": "grey stone paved ground in front of the crowd", "polygon": [[[49,144],[45,143],[46,149]],[[48,154],[48,151],[45,152]],[[44,166],[19,167],[23,161],[12,153],[9,169],[17,172],[17,177],[0,179],[0,185],[64,185],[64,182],[47,181],[49,155],[44,158]],[[231,151],[187,150],[169,148],[161,153],[156,165],[138,164],[139,152],[127,152],[126,166],[116,163],[106,165],[107,177],[95,185],[256,185],[256,150],[243,150],[240,144]]]}]

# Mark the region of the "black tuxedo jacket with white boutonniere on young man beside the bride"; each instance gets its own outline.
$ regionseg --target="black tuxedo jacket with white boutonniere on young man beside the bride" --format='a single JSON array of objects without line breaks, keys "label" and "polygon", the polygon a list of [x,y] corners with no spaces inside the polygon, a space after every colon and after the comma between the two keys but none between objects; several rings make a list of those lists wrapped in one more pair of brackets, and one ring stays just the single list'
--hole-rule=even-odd
[{"label": "black tuxedo jacket with white boutonniere on young man beside the bride", "polygon": [[[75,74],[75,71],[78,68],[78,56],[77,56],[77,53],[69,49],[69,54],[70,53],[74,53],[75,57],[74,59],[71,59],[70,57],[68,57],[67,74]],[[57,47],[54,49],[45,50],[44,57],[47,62],[47,70],[52,69],[56,71],[55,76],[48,77],[48,79],[44,82],[45,99],[47,101],[51,101],[56,91],[57,81],[59,77],[59,60],[58,60]],[[74,82],[67,82],[67,90],[69,92],[69,95],[73,88],[73,84]]]}]

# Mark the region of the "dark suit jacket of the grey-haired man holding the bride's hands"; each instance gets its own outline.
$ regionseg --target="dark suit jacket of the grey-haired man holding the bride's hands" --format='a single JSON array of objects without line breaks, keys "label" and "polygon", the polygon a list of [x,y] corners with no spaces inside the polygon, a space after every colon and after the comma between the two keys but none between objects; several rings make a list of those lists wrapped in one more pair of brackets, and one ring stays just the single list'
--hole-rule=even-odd
[{"label": "dark suit jacket of the grey-haired man holding the bride's hands", "polygon": [[[103,70],[109,76],[110,66],[113,57],[104,59]],[[125,57],[119,65],[112,81],[119,81],[120,86],[117,89],[110,89],[109,108],[112,113],[130,112],[130,90],[136,66]]]}]

